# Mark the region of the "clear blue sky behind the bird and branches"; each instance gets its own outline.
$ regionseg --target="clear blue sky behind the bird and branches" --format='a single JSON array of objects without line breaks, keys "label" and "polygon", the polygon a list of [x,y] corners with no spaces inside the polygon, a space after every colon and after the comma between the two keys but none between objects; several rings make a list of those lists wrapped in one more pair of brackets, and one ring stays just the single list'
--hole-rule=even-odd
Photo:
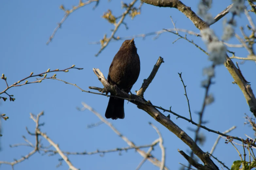
[{"label": "clear blue sky behind the bird and branches", "polygon": [[[195,12],[197,11],[197,3],[194,1],[183,0],[182,2]],[[104,34],[111,35],[110,30],[114,27],[101,18],[103,12],[111,9],[114,15],[119,16],[124,9],[121,9],[119,2],[114,1],[100,1],[94,10],[92,10],[94,4],[83,7],[68,17],[53,41],[47,46],[46,41],[63,17],[63,11],[59,9],[59,6],[63,4],[64,7],[70,8],[77,3],[78,0],[0,2],[0,73],[5,74],[9,84],[29,76],[31,72],[39,74],[48,68],[64,69],[75,64],[84,69],[71,69],[68,73],[57,73],[57,78],[76,83],[84,90],[88,90],[89,86],[102,87],[92,69],[99,68],[106,77],[112,58],[122,42],[110,43],[98,57],[94,57],[94,54],[97,53],[100,46],[89,43],[99,41]],[[213,1],[210,12],[215,16],[230,3],[231,1]],[[139,6],[139,2],[136,6]],[[116,35],[123,37],[158,31],[163,28],[173,28],[170,16],[175,21],[177,28],[199,32],[193,23],[177,9],[144,4],[141,15],[133,20],[129,17],[125,19],[129,29],[126,30],[122,25]],[[226,17],[230,18],[230,16],[228,14]],[[219,37],[222,35],[222,20],[211,26]],[[245,26],[248,22],[245,15],[242,15],[241,18],[236,17],[236,20],[238,23],[236,31],[240,34],[239,26]],[[256,20],[255,15],[253,20]],[[143,79],[148,77],[158,57],[162,56],[164,63],[146,90],[145,99],[164,108],[172,106],[173,111],[188,118],[187,101],[183,95],[184,88],[178,75],[178,72],[182,72],[182,78],[187,85],[192,118],[197,120],[196,112],[201,109],[205,92],[200,87],[201,81],[205,78],[202,75],[202,69],[211,65],[211,62],[207,60],[207,56],[202,51],[185,40],[181,39],[172,44],[178,38],[176,35],[164,33],[156,40],[152,38],[153,36],[146,37],[145,40],[135,39],[141,60],[141,72],[131,91],[139,90]],[[193,39],[199,46],[206,49],[200,37],[188,36],[188,38]],[[233,38],[230,43],[238,42]],[[244,49],[230,50],[235,50],[236,56],[247,56],[247,51]],[[233,62],[236,61],[233,60]],[[251,87],[254,90],[256,84],[255,74],[253,74],[256,71],[255,63],[246,61],[244,64],[240,64],[240,69],[247,81],[251,82]],[[243,93],[236,84],[232,84],[233,79],[223,65],[216,67],[215,75],[215,84],[210,88],[210,93],[213,93],[215,101],[205,109],[203,119],[208,121],[206,126],[223,132],[236,125],[237,128],[230,135],[246,138],[245,134],[247,134],[253,137],[254,133],[251,128],[244,125],[244,113],[249,116],[251,113]],[[35,78],[29,80],[34,81]],[[0,81],[0,87],[0,91],[6,88],[3,80]],[[8,92],[13,94],[16,100],[15,102],[8,100],[0,103],[1,113],[9,116],[8,121],[1,120],[3,134],[1,137],[1,161],[11,162],[13,158],[19,159],[31,151],[31,148],[28,147],[9,148],[9,145],[24,143],[22,135],[34,143],[34,137],[27,134],[25,127],[34,131],[35,124],[29,119],[29,113],[38,114],[42,110],[45,115],[41,122],[45,122],[45,125],[41,130],[47,132],[47,135],[55,143],[58,143],[63,151],[86,150],[89,152],[96,149],[107,150],[127,146],[105,124],[87,129],[88,124],[96,123],[99,119],[88,110],[81,112],[76,109],[77,106],[82,107],[81,102],[85,102],[104,116],[108,104],[108,98],[104,96],[84,93],[74,86],[54,80],[11,88]],[[131,103],[125,103],[125,114],[124,120],[109,120],[123,135],[126,135],[136,145],[150,144],[158,138],[155,130],[148,124],[148,122],[152,122],[159,128],[164,138],[166,166],[169,169],[178,169],[179,162],[187,164],[177,149],[186,153],[190,153],[190,149],[178,137]],[[189,128],[196,128],[195,126],[185,120],[176,119],[174,115],[171,115],[171,120],[194,138],[195,134]],[[203,129],[200,132],[206,136],[206,142],[201,149],[205,152],[210,151],[217,135]],[[240,158],[236,150],[224,142],[223,139],[220,140],[214,156],[230,167],[233,161]],[[47,146],[48,142],[43,140],[43,144]],[[239,149],[242,151],[241,147]],[[156,147],[152,154],[161,160],[159,147]],[[36,153],[28,160],[15,165],[14,168],[15,170],[55,169],[59,158],[59,155],[48,157]],[[122,152],[122,156],[119,156],[118,153],[108,153],[104,157],[85,155],[70,156],[69,158],[77,168],[91,170],[135,169],[143,159],[133,150],[127,153]],[[218,163],[216,164],[219,166]],[[11,167],[2,165],[0,169],[8,170]],[[63,163],[59,169],[68,169],[68,166]],[[159,168],[146,162],[141,169]]]}]

